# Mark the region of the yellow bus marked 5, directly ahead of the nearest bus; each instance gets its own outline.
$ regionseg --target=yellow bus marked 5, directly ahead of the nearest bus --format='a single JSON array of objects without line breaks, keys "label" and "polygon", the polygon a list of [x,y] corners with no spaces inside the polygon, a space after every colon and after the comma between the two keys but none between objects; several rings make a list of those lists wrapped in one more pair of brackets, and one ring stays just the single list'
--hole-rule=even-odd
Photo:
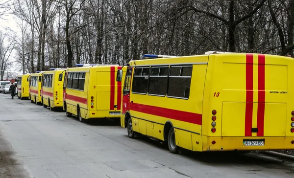
[{"label": "yellow bus marked 5, directly ahead of the nearest bus", "polygon": [[118,65],[83,65],[67,69],[63,109],[84,122],[107,118],[120,122],[122,82],[116,81]]}]

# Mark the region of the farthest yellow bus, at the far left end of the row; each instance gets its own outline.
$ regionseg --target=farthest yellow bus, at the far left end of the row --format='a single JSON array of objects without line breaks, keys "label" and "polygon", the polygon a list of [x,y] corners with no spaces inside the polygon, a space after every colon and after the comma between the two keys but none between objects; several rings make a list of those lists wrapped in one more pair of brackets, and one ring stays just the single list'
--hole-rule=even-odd
[{"label": "farthest yellow bus, at the far left end of the row", "polygon": [[29,75],[30,74],[28,73],[24,73],[17,76],[17,96],[20,99],[25,99],[29,97]]}]

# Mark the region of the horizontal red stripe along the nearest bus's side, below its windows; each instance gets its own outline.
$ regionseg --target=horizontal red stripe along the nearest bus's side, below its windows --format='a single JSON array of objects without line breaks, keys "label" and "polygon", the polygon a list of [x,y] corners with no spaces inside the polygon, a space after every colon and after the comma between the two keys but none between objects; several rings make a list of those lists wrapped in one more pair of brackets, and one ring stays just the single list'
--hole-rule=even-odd
[{"label": "horizontal red stripe along the nearest bus's side, below its windows", "polygon": [[131,103],[130,110],[156,115],[160,117],[166,117],[183,122],[189,122],[192,124],[202,125],[202,114],[197,114],[193,112],[178,111],[168,108],[143,105],[139,103]]}]

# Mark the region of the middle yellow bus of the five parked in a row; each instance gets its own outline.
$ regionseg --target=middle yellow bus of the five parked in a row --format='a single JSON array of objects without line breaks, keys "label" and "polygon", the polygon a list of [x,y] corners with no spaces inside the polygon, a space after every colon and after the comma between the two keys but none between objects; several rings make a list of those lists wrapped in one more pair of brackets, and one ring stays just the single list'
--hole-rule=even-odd
[{"label": "middle yellow bus of the five parked in a row", "polygon": [[65,69],[62,68],[43,72],[41,100],[44,108],[49,107],[51,111],[62,108],[64,74]]}]

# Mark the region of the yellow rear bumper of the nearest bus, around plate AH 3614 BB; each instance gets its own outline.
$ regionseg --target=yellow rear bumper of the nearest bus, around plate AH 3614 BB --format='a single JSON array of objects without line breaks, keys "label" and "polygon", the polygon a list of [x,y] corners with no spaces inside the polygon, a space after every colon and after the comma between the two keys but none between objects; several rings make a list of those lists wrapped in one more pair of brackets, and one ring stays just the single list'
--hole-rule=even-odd
[{"label": "yellow rear bumper of the nearest bus, around plate AH 3614 BB", "polygon": [[[244,139],[264,139],[263,146],[244,146]],[[238,137],[238,136],[226,136],[226,137],[213,137],[202,136],[202,148],[203,152],[209,151],[256,151],[256,150],[294,150],[294,144],[291,142],[294,140],[294,136],[250,136],[250,137]],[[215,144],[212,142],[215,141]]]}]

